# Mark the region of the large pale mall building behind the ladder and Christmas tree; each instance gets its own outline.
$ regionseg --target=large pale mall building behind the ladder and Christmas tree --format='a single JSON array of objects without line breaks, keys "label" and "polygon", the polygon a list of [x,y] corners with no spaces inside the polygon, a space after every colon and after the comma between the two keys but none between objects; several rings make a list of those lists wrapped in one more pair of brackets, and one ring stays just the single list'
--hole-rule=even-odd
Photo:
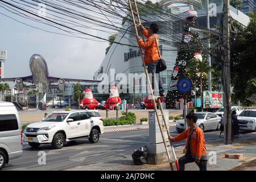
[{"label": "large pale mall building behind the ladder and Christmas tree", "polygon": [[[181,1],[175,0],[162,0],[160,1],[160,5],[164,10],[166,9],[166,7],[170,7],[174,3],[180,2]],[[163,78],[163,85],[166,92],[169,89],[172,71],[174,69],[177,57],[177,49],[179,49],[181,35],[185,26],[185,24],[181,23],[182,21],[178,19],[183,20],[184,11],[193,8],[197,11],[198,14],[196,26],[205,28],[207,27],[207,13],[205,8],[199,8],[200,0],[183,0],[182,3],[184,2],[187,2],[188,4],[191,3],[192,5],[179,4],[176,5],[176,7],[172,7],[171,13],[175,14],[175,16],[172,16],[168,19],[162,19],[160,18],[160,16],[158,18],[156,18],[155,16],[150,18],[150,15],[142,17],[142,19],[147,20],[146,22],[151,22],[152,20],[154,20],[154,22],[158,23],[160,27],[160,39],[167,38],[169,39],[168,42],[171,42],[171,44],[168,45],[160,42],[161,55],[163,59],[167,61],[167,70],[160,73],[160,76],[162,76]],[[210,28],[214,30],[215,25],[221,24],[223,2],[222,0],[209,0],[209,3]],[[249,17],[232,6],[230,6],[230,15],[234,20],[237,20],[243,26],[247,26],[247,24],[249,23]],[[130,24],[125,22],[122,28],[123,30],[128,29],[130,31],[133,31],[134,28],[132,26],[129,26]],[[144,23],[144,26],[148,27],[149,23]],[[163,32],[161,30],[167,31]],[[110,89],[109,85],[117,84],[118,86],[119,84],[120,86],[121,82],[125,81],[123,80],[123,78],[121,78],[123,74],[125,74],[127,78],[127,85],[122,85],[121,88],[119,88],[119,93],[121,93],[122,99],[126,99],[128,103],[132,104],[143,101],[144,98],[147,96],[147,91],[149,92],[149,90],[146,88],[146,82],[144,82],[145,79],[143,77],[140,77],[140,75],[144,73],[144,69],[142,67],[142,59],[139,53],[139,49],[137,47],[134,47],[138,45],[137,40],[135,39],[135,36],[129,34],[128,31],[125,35],[123,35],[123,32],[124,31],[118,33],[115,42],[130,46],[123,46],[119,44],[117,45],[115,43],[112,44],[107,55],[105,56],[105,59],[102,61],[98,70],[94,73],[94,79],[102,76],[102,73],[108,75],[109,79],[105,80],[106,85],[101,87],[101,90],[97,90],[97,88],[94,87],[94,91],[98,92],[94,92],[94,96],[97,96],[98,99],[100,99],[101,97],[102,100],[108,98]],[[201,38],[203,44],[205,44],[203,34],[201,35]],[[139,78],[136,76],[136,74]],[[127,93],[128,91],[129,93]]]}]

